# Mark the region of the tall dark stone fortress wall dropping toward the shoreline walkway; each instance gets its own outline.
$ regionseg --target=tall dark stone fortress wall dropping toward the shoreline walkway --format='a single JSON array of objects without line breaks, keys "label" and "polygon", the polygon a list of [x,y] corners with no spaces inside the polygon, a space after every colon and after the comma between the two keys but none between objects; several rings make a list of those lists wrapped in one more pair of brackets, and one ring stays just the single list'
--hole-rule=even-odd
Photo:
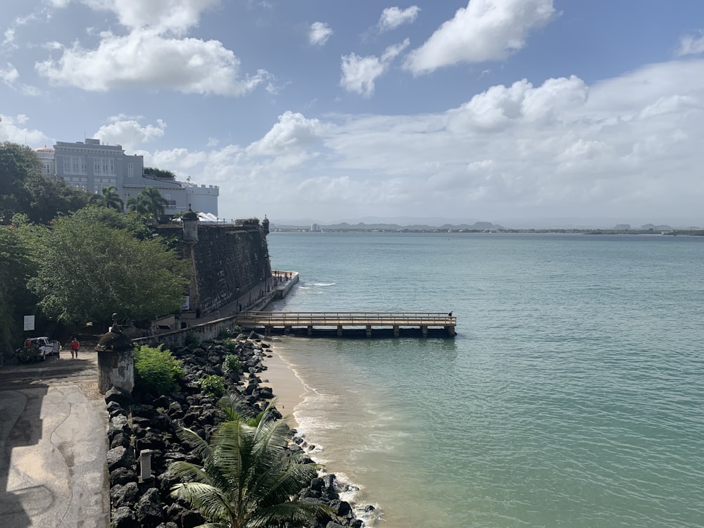
[{"label": "tall dark stone fortress wall dropping toward the shoreline walkway", "polygon": [[[176,225],[160,226],[159,232],[182,237],[182,228]],[[182,246],[184,258],[192,261],[196,271],[190,308],[199,308],[203,315],[236,301],[238,293],[244,298],[262,277],[271,275],[266,235],[258,224],[199,225],[198,242]]]}]

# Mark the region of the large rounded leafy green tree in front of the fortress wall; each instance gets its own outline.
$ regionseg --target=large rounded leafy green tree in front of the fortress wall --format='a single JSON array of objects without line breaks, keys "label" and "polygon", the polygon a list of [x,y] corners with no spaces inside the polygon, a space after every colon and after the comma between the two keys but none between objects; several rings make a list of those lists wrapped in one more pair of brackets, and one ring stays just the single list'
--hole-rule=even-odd
[{"label": "large rounded leafy green tree in front of the fortress wall", "polygon": [[[113,225],[123,216],[106,208],[100,213]],[[139,320],[178,310],[188,264],[161,239],[140,240],[129,227],[95,222],[97,214],[88,208],[59,218],[37,239],[34,252],[41,258],[30,289],[42,311],[62,322],[99,322],[115,312]]]}]

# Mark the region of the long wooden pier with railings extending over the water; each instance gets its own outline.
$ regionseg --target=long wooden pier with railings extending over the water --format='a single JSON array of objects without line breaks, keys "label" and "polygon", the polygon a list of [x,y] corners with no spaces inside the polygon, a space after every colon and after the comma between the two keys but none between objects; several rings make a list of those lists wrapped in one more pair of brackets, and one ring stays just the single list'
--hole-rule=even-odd
[{"label": "long wooden pier with railings extending over the water", "polygon": [[243,329],[318,337],[455,337],[457,318],[434,312],[243,312]]}]

